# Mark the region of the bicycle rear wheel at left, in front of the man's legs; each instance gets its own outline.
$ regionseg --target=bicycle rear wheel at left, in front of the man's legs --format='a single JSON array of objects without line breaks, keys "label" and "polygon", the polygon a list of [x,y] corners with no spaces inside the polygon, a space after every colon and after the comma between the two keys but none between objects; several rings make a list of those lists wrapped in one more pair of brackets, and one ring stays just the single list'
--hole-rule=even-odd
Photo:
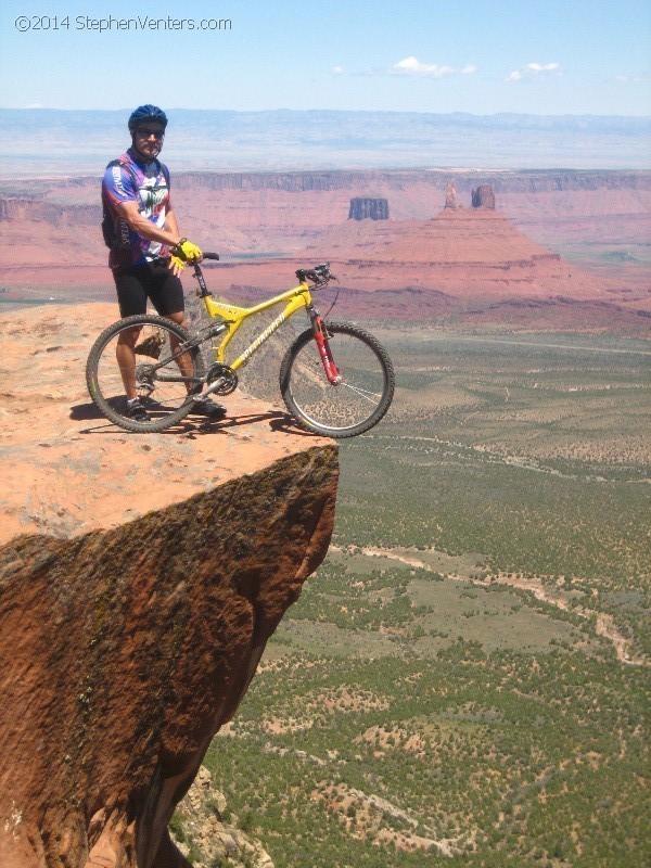
[{"label": "bicycle rear wheel at left, in front of the man's legs", "polygon": [[[201,391],[204,362],[190,334],[165,317],[126,317],[93,344],[86,366],[90,397],[116,425],[133,432],[164,431],[192,409],[189,394]],[[131,348],[132,347],[132,352]],[[127,413],[126,390],[135,390],[149,421]]]}]

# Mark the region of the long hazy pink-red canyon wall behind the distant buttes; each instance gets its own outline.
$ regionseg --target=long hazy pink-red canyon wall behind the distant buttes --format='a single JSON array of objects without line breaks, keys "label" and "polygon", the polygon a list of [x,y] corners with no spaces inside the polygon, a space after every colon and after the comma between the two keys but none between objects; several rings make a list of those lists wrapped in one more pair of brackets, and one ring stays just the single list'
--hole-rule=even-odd
[{"label": "long hazy pink-red canyon wall behind the distant buttes", "polygon": [[[459,203],[468,208],[472,190],[489,182],[499,210],[552,250],[572,239],[644,245],[649,237],[648,171],[174,173],[173,183],[184,233],[224,254],[260,256],[295,255],[344,227],[352,197],[386,199],[390,231],[396,222],[430,220],[443,208],[450,179]],[[69,293],[71,286],[111,282],[99,231],[98,184],[98,178],[0,184],[3,285],[61,286]],[[85,232],[84,244],[79,227],[91,230]],[[328,251],[327,258],[332,257]],[[285,280],[296,267],[283,276]],[[647,286],[648,275],[640,277],[640,269],[634,272],[636,285],[641,281]],[[375,283],[396,286],[383,278],[374,275]]]}]

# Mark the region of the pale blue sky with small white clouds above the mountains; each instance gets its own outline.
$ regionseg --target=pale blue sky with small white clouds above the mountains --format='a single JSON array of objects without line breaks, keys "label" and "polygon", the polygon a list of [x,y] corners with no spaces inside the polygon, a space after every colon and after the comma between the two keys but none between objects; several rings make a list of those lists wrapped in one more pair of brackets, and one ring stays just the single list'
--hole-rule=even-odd
[{"label": "pale blue sky with small white clouds above the mountains", "polygon": [[4,0],[0,107],[651,115],[649,0]]}]

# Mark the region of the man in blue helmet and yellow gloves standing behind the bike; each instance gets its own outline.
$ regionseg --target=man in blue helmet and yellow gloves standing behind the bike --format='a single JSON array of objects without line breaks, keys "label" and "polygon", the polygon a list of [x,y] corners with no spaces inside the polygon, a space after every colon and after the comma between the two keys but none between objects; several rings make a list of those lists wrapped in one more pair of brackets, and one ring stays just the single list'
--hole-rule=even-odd
[{"label": "man in blue helmet and yellow gloves standing behind the bike", "polygon": [[[148,298],[156,311],[188,328],[180,273],[187,261],[201,261],[195,244],[181,238],[169,194],[169,171],[158,162],[167,116],[156,105],[140,105],[129,117],[131,146],[106,166],[102,181],[104,240],[111,248],[120,316],[146,312]],[[133,348],[140,330],[124,332],[117,361],[127,395],[127,416],[149,421],[138,396]],[[183,369],[183,357],[179,359]],[[194,403],[195,413],[218,418],[225,408],[212,398]]]}]

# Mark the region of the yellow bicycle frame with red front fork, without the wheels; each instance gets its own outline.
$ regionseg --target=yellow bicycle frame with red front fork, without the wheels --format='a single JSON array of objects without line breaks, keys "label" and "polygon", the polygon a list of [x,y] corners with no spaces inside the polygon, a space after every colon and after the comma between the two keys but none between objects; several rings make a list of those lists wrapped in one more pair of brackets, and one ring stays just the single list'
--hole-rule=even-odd
[{"label": "yellow bicycle frame with red front fork, without the wheels", "polygon": [[219,342],[219,345],[214,347],[216,361],[225,363],[226,349],[246,319],[250,317],[255,317],[270,307],[275,307],[276,305],[284,303],[285,307],[282,312],[269,323],[265,331],[261,332],[255,339],[255,341],[253,341],[253,343],[250,344],[246,349],[244,349],[244,352],[241,353],[240,356],[238,356],[238,358],[229,365],[229,367],[233,371],[238,371],[240,368],[246,365],[254,353],[259,349],[265,341],[267,341],[276,331],[278,331],[283,322],[290,319],[290,317],[292,317],[297,310],[305,308],[315,332],[315,340],[317,342],[321,361],[323,362],[326,375],[333,385],[336,385],[340,382],[341,378],[328,344],[328,334],[323,329],[321,315],[312,304],[311,293],[307,282],[302,281],[297,286],[294,286],[291,290],[285,290],[285,292],[280,293],[280,295],[275,295],[271,298],[267,298],[265,302],[260,302],[260,304],[254,305],[253,307],[238,307],[237,305],[219,304],[214,301],[207,290],[202,270],[197,264],[194,265],[194,276],[199,281],[199,285],[201,288],[200,297],[204,301],[209,318],[220,318],[224,321],[226,334]]}]

